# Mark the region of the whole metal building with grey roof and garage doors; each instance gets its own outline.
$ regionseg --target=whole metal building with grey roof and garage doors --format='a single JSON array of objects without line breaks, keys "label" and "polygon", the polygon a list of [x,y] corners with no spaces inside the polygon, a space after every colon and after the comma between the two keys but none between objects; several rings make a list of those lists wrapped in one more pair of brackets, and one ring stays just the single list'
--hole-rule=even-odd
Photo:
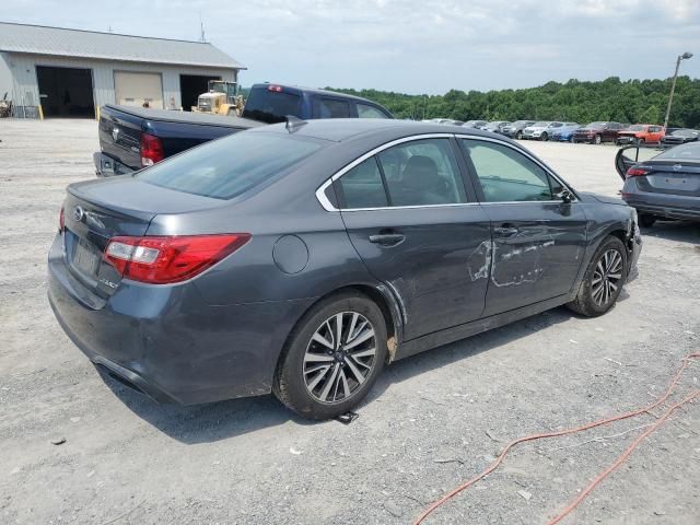
[{"label": "whole metal building with grey roof and garage doors", "polygon": [[94,117],[103,104],[189,109],[246,69],[209,43],[0,22],[0,98],[14,116]]}]

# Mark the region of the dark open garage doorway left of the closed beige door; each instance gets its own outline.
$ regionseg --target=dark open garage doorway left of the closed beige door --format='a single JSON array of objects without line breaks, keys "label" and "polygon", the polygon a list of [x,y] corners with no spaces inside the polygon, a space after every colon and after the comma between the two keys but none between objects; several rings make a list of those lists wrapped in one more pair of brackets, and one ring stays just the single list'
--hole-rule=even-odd
[{"label": "dark open garage doorway left of the closed beige door", "polygon": [[36,67],[45,117],[94,118],[92,70]]}]

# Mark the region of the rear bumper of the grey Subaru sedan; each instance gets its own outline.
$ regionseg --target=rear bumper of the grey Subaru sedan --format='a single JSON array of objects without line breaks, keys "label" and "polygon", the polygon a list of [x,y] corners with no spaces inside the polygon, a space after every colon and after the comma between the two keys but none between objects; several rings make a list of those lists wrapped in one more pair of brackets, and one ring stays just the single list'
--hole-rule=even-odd
[{"label": "rear bumper of the grey Subaru sedan", "polygon": [[60,326],[94,364],[160,402],[270,393],[284,340],[313,302],[212,306],[191,281],[128,280],[104,299],[72,275],[60,240],[48,257],[48,299]]}]

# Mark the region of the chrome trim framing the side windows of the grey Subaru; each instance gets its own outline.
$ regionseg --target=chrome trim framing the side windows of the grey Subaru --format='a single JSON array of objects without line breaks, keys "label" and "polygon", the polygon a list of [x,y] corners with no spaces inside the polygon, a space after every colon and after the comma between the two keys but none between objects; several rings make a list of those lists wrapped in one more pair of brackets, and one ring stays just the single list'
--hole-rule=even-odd
[{"label": "chrome trim framing the side windows of the grey Subaru", "polygon": [[[364,161],[366,161],[371,156],[374,156],[377,153],[381,153],[382,151],[384,151],[384,150],[386,150],[388,148],[392,148],[394,145],[402,144],[402,143],[406,143],[406,142],[413,142],[413,141],[417,141],[417,140],[424,140],[424,139],[452,139],[452,138],[454,138],[456,140],[459,140],[459,139],[482,140],[485,142],[494,142],[497,144],[505,145],[506,148],[510,148],[510,149],[521,153],[522,155],[525,155],[532,162],[534,162],[539,167],[541,167],[545,171],[545,173],[547,173],[549,176],[555,178],[559,184],[561,184],[564,188],[569,189],[569,191],[571,191],[571,194],[574,197],[574,199],[571,201],[572,203],[579,201],[579,198],[576,197],[575,191],[573,191],[569,187],[568,184],[565,184],[563,180],[561,180],[549,167],[547,167],[545,164],[539,162],[537,159],[535,159],[528,152],[523,151],[520,148],[516,148],[513,144],[509,144],[508,142],[503,142],[502,140],[499,140],[499,139],[492,139],[490,137],[481,137],[481,136],[466,135],[466,133],[464,133],[464,135],[463,133],[422,133],[422,135],[412,135],[410,137],[402,137],[400,139],[395,139],[395,140],[393,140],[390,142],[386,142],[385,144],[377,145],[373,150],[368,151],[366,153],[364,153],[363,155],[359,156],[358,159],[355,159],[351,163],[347,164],[345,167],[342,167],[339,171],[337,171],[325,183],[323,183],[318,187],[318,189],[316,189],[316,199],[318,200],[320,206],[326,211],[341,211],[340,208],[336,208],[332,205],[332,202],[330,202],[330,200],[328,200],[328,197],[326,197],[326,189],[328,189],[328,187],[332,183],[338,180],[340,177],[342,177],[346,173],[348,173],[350,170],[355,167],[358,164],[363,163]],[[485,206],[485,205],[532,205],[532,203],[535,203],[535,202],[547,203],[547,202],[562,202],[562,201],[558,200],[558,199],[552,199],[552,200],[524,200],[524,201],[514,200],[514,201],[503,201],[503,202],[478,202],[478,201],[476,201],[476,202],[452,202],[452,203],[447,203],[447,205],[383,206],[383,207],[378,207],[378,208],[343,208],[342,211],[343,212],[352,212],[352,211],[378,211],[378,210],[410,210],[410,209],[420,209],[420,208],[454,208],[454,207],[459,207],[459,206],[475,206],[475,205],[480,205],[480,206]]]}]

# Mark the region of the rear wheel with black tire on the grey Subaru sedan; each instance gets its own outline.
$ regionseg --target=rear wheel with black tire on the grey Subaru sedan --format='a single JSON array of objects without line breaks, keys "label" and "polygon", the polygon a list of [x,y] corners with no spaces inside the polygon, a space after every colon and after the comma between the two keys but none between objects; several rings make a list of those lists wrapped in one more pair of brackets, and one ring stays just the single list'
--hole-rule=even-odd
[{"label": "rear wheel with black tire on the grey Subaru sedan", "polygon": [[[372,337],[350,347],[366,337],[368,330],[373,331]],[[336,345],[336,339],[345,341],[348,348]],[[366,354],[372,348],[373,354],[357,355]],[[290,334],[278,362],[272,392],[303,418],[336,418],[366,396],[386,355],[386,323],[380,307],[359,292],[331,295],[312,306]]]}]

